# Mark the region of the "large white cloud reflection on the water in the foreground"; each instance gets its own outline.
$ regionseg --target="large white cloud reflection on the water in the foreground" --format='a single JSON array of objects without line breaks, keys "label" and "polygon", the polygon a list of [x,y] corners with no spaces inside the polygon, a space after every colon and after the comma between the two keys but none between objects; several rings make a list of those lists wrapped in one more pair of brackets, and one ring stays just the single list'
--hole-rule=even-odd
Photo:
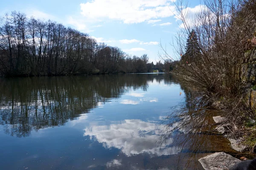
[{"label": "large white cloud reflection on the water in the foreground", "polygon": [[164,125],[156,123],[127,119],[117,124],[86,127],[84,136],[90,136],[90,139],[97,140],[105,148],[115,147],[127,156],[141,153],[156,154],[157,156],[175,154],[179,148],[169,146],[173,143],[172,138],[162,145],[156,143],[164,133],[160,130],[163,127]]}]

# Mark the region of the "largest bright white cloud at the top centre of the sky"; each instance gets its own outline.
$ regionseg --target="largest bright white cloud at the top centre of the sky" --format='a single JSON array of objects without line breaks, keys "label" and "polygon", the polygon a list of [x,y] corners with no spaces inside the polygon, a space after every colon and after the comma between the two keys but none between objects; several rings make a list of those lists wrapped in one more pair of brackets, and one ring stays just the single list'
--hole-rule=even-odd
[{"label": "largest bright white cloud at the top centre of the sky", "polygon": [[173,1],[175,0],[92,0],[81,3],[80,7],[81,14],[87,18],[141,23],[154,18],[173,16]]}]

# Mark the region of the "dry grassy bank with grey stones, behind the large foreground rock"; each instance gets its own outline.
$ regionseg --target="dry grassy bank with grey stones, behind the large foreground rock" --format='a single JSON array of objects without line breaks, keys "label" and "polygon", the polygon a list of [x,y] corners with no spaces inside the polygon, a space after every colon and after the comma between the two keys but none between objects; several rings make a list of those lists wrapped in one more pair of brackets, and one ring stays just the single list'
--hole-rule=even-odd
[{"label": "dry grassy bank with grey stones, behind the large foreground rock", "polygon": [[213,103],[221,112],[213,117],[219,133],[230,140],[231,146],[241,153],[255,153],[256,122],[255,111],[246,105],[242,97],[236,102],[226,100]]}]

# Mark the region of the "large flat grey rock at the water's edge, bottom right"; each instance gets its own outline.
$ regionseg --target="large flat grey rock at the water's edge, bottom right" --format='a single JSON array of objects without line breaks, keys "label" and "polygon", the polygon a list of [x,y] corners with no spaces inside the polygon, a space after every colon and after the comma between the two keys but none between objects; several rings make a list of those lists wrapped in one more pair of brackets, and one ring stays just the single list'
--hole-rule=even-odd
[{"label": "large flat grey rock at the water's edge, bottom right", "polygon": [[224,152],[212,153],[198,161],[205,170],[229,170],[234,164],[241,162],[239,159]]}]

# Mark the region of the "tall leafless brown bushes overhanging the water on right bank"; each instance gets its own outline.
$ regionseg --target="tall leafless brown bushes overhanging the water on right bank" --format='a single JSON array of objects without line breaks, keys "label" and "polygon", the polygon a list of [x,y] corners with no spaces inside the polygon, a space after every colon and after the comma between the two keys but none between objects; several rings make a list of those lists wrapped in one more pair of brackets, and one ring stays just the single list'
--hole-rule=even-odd
[{"label": "tall leafless brown bushes overhanging the water on right bank", "polygon": [[180,82],[207,96],[240,96],[244,53],[255,46],[255,6],[255,0],[204,0],[191,22],[188,8],[177,2],[183,29],[176,50],[182,57],[173,72]]}]

